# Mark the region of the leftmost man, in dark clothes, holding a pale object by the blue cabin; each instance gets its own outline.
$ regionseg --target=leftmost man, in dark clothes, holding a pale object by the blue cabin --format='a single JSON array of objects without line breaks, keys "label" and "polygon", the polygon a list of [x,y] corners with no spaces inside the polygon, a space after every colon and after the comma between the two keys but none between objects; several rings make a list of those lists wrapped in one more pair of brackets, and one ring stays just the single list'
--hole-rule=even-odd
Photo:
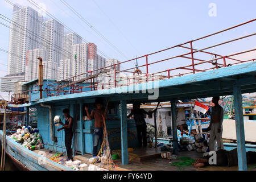
[{"label": "leftmost man, in dark clothes, holding a pale object by the blue cabin", "polygon": [[65,147],[67,150],[68,160],[73,160],[73,152],[72,152],[72,138],[73,138],[73,118],[69,115],[69,109],[64,109],[63,114],[65,116],[65,124],[60,121],[60,125],[63,125],[57,131],[63,130],[65,131]]}]

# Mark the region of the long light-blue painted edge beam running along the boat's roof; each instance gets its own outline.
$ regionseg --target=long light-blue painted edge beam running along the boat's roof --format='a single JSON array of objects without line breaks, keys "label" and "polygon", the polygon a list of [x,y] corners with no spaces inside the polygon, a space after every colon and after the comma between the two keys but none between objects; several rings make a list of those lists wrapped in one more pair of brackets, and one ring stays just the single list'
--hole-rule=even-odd
[{"label": "long light-blue painted edge beam running along the boat's roof", "polygon": [[[61,101],[61,100],[76,99],[76,98],[81,98],[81,97],[107,96],[107,95],[111,95],[111,94],[118,94],[121,92],[140,93],[141,90],[143,90],[143,88],[148,88],[147,86],[151,85],[151,84],[152,84],[152,89],[167,88],[168,86],[177,86],[177,85],[188,87],[187,84],[191,84],[191,83],[195,83],[195,82],[209,81],[209,80],[214,80],[214,79],[217,80],[217,79],[224,78],[224,77],[232,77],[232,76],[244,75],[244,74],[255,73],[255,72],[256,72],[256,62],[253,62],[253,63],[235,65],[232,67],[216,69],[216,70],[208,71],[208,72],[196,73],[193,75],[171,78],[171,79],[167,79],[167,80],[143,83],[143,84],[139,84],[139,85],[122,86],[121,88],[112,88],[112,89],[96,90],[96,91],[92,91],[92,92],[82,92],[82,93],[68,94],[68,95],[63,95],[63,96],[48,97],[48,98],[43,98],[42,100],[34,101],[32,103],[38,104],[40,102],[49,102],[49,101],[54,101],[54,100]],[[220,80],[220,82],[225,82],[225,81]],[[225,82],[225,84],[226,83],[228,83],[228,82]],[[218,89],[220,89],[221,87],[224,88],[225,84],[222,86],[221,85],[218,86],[215,89],[216,92],[218,92]],[[250,84],[250,83],[247,83],[247,84]],[[123,95],[125,95],[125,94],[122,94],[121,96],[123,96]],[[132,94],[127,94],[127,95],[129,96]],[[127,100],[127,98],[123,98],[123,100]]]}]

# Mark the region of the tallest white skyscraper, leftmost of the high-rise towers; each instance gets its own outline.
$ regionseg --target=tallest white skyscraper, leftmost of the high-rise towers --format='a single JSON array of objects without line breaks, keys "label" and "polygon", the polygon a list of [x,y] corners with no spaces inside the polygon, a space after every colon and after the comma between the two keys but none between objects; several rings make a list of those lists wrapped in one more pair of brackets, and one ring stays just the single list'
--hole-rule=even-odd
[{"label": "tallest white skyscraper, leftmost of the high-rise towers", "polygon": [[31,7],[14,5],[10,24],[8,75],[25,72],[26,53],[40,48],[42,17]]}]

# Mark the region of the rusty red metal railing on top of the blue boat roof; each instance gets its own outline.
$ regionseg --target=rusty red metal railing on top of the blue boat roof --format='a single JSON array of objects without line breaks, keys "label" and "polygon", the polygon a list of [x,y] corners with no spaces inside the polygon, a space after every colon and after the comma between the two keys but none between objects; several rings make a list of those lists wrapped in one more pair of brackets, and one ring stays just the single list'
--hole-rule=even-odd
[{"label": "rusty red metal railing on top of the blue boat roof", "polygon": [[[185,76],[185,75],[190,75],[190,74],[195,74],[197,72],[206,72],[212,69],[219,69],[223,67],[229,67],[231,65],[236,65],[236,64],[241,64],[241,63],[246,63],[249,61],[254,61],[256,57],[253,57],[253,59],[248,59],[248,60],[240,60],[237,59],[234,56],[238,55],[244,55],[249,52],[256,51],[255,45],[253,49],[249,49],[247,51],[242,51],[242,52],[236,52],[232,53],[230,55],[221,55],[219,53],[212,53],[207,51],[207,49],[212,49],[212,48],[217,48],[220,46],[224,46],[225,44],[230,44],[230,43],[235,43],[238,40],[250,38],[254,34],[249,34],[242,36],[240,38],[228,40],[226,42],[218,43],[218,44],[213,44],[212,46],[208,46],[205,48],[201,49],[195,49],[195,43],[199,42],[199,40],[203,40],[206,38],[209,38],[210,36],[214,36],[217,34],[220,34],[222,32],[226,32],[229,30],[232,30],[234,28],[243,26],[248,23],[255,22],[256,19],[249,20],[245,23],[238,24],[236,26],[226,28],[225,30],[218,31],[214,34],[210,34],[207,36],[203,36],[202,38],[191,40],[189,42],[185,42],[183,44],[179,44],[170,48],[162,49],[157,52],[153,52],[141,57],[136,57],[131,60],[123,61],[121,63],[116,63],[104,68],[100,69],[95,69],[93,71],[88,71],[86,73],[82,73],[81,75],[73,76],[71,78],[57,81],[51,84],[47,85],[47,88],[51,90],[53,93],[47,93],[47,96],[59,96],[60,94],[70,94],[70,93],[77,93],[77,92],[83,92],[82,88],[90,88],[90,90],[97,90],[97,89],[105,89],[105,88],[115,88],[119,86],[128,86],[128,85],[133,85],[133,84],[140,84],[142,82],[148,82],[148,81],[158,81],[158,80],[163,80],[163,79],[169,79],[169,78],[174,78],[174,77],[180,77],[180,76]],[[188,51],[186,51],[188,49]],[[181,52],[181,51],[186,51],[184,53],[181,53],[179,55],[173,55],[170,56],[171,54],[176,52]],[[154,57],[155,56],[155,57]],[[156,57],[157,56],[157,57]],[[201,58],[201,57],[204,58]],[[211,59],[205,60],[206,56],[212,56]],[[163,57],[163,59],[159,59],[159,57]],[[167,57],[167,58],[166,58]],[[191,60],[191,64],[185,65],[185,66],[180,66],[180,67],[174,67],[173,61],[172,60],[177,60],[179,59],[179,62],[176,62],[177,64],[180,63],[181,59],[184,60]],[[134,60],[139,60],[138,62],[141,63],[141,65],[137,65],[136,67],[131,67],[131,68],[126,68],[121,70],[121,65],[124,67],[127,67],[127,63],[131,63],[131,61]],[[156,60],[156,61],[152,61]],[[145,64],[143,64],[143,61]],[[152,68],[154,70],[158,69],[158,65],[163,63],[168,63],[164,64],[164,69],[156,72],[150,72],[150,67],[151,70]],[[160,66],[162,66],[160,65]],[[117,69],[120,68],[119,69]],[[146,72],[142,72],[142,69],[145,68]],[[167,69],[166,69],[167,68]],[[92,79],[89,80],[90,86],[77,86],[77,85],[72,85],[73,81],[79,80],[81,77],[86,77],[90,75],[94,75],[96,73],[99,73],[101,71],[104,71],[106,69],[110,69],[109,72],[107,73],[102,73],[100,74],[97,78],[97,82],[93,82]],[[133,73],[133,74],[131,74]],[[130,74],[130,75],[129,75]],[[65,82],[71,83],[71,85],[67,86],[70,87],[67,91],[63,88],[63,85],[65,85]],[[88,81],[88,80],[87,80]]]}]

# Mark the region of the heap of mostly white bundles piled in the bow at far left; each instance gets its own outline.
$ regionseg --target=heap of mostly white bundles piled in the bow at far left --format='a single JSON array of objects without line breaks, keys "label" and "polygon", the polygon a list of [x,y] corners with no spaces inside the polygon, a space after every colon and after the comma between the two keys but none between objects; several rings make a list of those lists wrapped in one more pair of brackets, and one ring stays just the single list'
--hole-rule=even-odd
[{"label": "heap of mostly white bundles piled in the bow at far left", "polygon": [[10,138],[31,151],[43,148],[43,140],[38,129],[32,129],[31,126],[23,126],[22,129],[16,130],[16,133],[11,135]]}]

